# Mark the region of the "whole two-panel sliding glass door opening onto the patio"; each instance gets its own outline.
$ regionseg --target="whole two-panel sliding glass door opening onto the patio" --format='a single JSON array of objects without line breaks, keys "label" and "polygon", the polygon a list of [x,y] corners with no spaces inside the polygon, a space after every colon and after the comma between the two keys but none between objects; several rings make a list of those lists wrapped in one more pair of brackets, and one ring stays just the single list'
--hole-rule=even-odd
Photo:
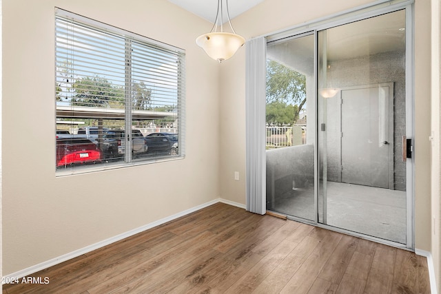
[{"label": "whole two-panel sliding glass door opening onto the patio", "polygon": [[413,247],[410,9],[268,39],[267,210]]}]

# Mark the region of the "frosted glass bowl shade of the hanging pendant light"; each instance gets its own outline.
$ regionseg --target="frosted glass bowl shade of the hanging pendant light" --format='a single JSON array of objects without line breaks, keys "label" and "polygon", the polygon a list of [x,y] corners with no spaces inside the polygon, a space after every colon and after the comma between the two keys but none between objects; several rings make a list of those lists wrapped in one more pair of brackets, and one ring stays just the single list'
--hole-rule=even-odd
[{"label": "frosted glass bowl shade of the hanging pendant light", "polygon": [[233,56],[244,43],[243,36],[231,32],[209,32],[196,39],[196,44],[219,63]]}]

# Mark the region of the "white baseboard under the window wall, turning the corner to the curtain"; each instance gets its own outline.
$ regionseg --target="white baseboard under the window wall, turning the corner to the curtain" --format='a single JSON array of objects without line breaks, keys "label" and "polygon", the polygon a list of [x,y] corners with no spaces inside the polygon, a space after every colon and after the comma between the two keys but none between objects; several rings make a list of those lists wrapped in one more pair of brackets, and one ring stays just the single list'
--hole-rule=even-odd
[{"label": "white baseboard under the window wall, turning the corner to the curtain", "polygon": [[135,235],[137,233],[141,233],[143,231],[146,231],[148,229],[152,229],[154,227],[159,226],[160,224],[165,224],[165,222],[170,222],[170,220],[176,220],[176,218],[181,218],[182,216],[186,216],[189,213],[193,213],[194,211],[198,211],[200,209],[203,209],[205,207],[209,207],[212,204],[216,204],[218,202],[223,202],[225,204],[230,204],[230,205],[234,205],[236,207],[245,207],[243,204],[238,204],[236,202],[232,202],[229,200],[225,200],[225,199],[215,199],[212,201],[209,201],[207,203],[198,205],[197,207],[193,207],[191,209],[187,209],[185,211],[181,211],[180,213],[176,213],[173,216],[168,216],[167,218],[162,218],[161,220],[156,220],[156,222],[151,222],[150,224],[145,224],[143,227],[139,227],[136,229],[132,229],[130,231],[127,231],[125,233],[121,233],[119,235],[116,235],[112,238],[108,238],[106,240],[97,242],[95,244],[89,245],[89,246],[85,246],[81,249],[78,249],[76,251],[72,251],[70,253],[61,255],[57,258],[52,258],[51,260],[47,260],[45,262],[41,262],[39,264],[35,264],[34,266],[30,266],[26,269],[22,269],[21,271],[16,271],[15,273],[11,273],[10,275],[5,275],[5,279],[4,280],[10,280],[12,278],[14,279],[20,279],[21,277],[25,277],[27,275],[31,275],[32,273],[37,273],[38,271],[42,271],[43,269],[48,269],[50,266],[54,266],[56,264],[60,264],[61,262],[65,262],[67,260],[71,260],[72,258],[76,258],[80,255],[83,255],[85,253],[89,253],[91,251],[94,251],[96,249],[99,249],[103,246],[107,246],[109,244],[112,244],[114,242],[117,242],[119,240],[123,240],[125,238],[128,238],[132,235]]}]

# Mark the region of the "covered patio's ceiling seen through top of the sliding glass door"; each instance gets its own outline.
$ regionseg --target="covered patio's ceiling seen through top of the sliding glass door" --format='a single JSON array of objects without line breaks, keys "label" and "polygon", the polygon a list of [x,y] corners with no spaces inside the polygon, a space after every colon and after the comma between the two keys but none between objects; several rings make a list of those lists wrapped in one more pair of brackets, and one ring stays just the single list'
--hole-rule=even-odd
[{"label": "covered patio's ceiling seen through top of the sliding glass door", "polygon": [[[386,52],[405,52],[406,14],[404,10],[371,17],[362,21],[320,30],[319,54],[327,63]],[[269,59],[283,63],[298,72],[312,74],[314,35],[285,39],[267,47]]]}]

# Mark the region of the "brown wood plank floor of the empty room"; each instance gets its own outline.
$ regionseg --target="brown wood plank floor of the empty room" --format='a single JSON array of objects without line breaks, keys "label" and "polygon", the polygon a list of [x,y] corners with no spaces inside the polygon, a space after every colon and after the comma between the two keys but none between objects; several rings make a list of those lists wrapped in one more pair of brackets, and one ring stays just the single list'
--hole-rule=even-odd
[{"label": "brown wood plank floor of the empty room", "polygon": [[3,293],[430,293],[426,258],[214,204]]}]

